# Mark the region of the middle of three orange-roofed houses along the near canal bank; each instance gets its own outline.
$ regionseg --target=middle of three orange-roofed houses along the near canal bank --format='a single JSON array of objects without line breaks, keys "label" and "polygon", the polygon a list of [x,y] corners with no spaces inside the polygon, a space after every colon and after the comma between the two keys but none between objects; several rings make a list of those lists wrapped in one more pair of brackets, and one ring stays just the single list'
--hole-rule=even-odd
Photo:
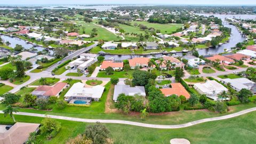
[{"label": "middle of three orange-roofed houses along the near canal bank", "polygon": [[148,67],[149,58],[133,58],[129,59],[129,65],[131,69],[134,69],[136,66],[138,67]]}]

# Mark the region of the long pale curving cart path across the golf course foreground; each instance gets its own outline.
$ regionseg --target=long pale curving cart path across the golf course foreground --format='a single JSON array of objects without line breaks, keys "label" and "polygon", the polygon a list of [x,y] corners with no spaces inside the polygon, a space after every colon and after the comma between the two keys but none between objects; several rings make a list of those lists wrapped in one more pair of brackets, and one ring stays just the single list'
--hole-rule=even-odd
[{"label": "long pale curving cart path across the golf course foreground", "polygon": [[[155,128],[155,129],[180,129],[183,127],[189,127],[189,126],[193,126],[193,125],[201,124],[201,123],[205,123],[205,122],[219,121],[222,119],[233,118],[233,117],[237,117],[237,116],[241,116],[241,115],[250,113],[252,111],[256,111],[256,107],[250,108],[250,109],[245,109],[245,110],[239,111],[234,114],[229,114],[229,115],[220,116],[220,117],[204,118],[204,119],[199,119],[197,121],[188,122],[185,124],[177,124],[177,125],[157,125],[157,124],[146,124],[146,123],[138,123],[138,122],[131,122],[131,121],[122,121],[122,120],[115,120],[115,119],[85,119],[85,118],[75,118],[75,117],[56,116],[56,115],[47,115],[47,117],[51,117],[51,118],[55,118],[55,119],[63,119],[63,120],[68,120],[68,121],[85,122],[85,123],[100,122],[100,123],[135,125],[135,126],[150,127],[150,128]],[[3,114],[3,111],[0,111],[0,113]],[[25,116],[46,117],[46,115],[44,115],[44,114],[35,114],[35,113],[18,112],[18,113],[14,113],[14,114],[15,115],[25,115]]]}]

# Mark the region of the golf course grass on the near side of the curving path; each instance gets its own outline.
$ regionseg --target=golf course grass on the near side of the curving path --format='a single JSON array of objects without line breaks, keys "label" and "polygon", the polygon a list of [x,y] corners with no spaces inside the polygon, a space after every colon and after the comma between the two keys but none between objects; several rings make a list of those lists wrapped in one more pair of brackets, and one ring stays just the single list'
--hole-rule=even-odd
[{"label": "golf course grass on the near side of the curving path", "polygon": [[[0,114],[0,117],[4,117]],[[191,143],[205,144],[240,144],[256,143],[256,112],[221,121],[206,122],[182,129],[152,129],[124,124],[104,124],[111,133],[114,143],[170,143],[173,138],[185,138]],[[18,122],[41,123],[42,117],[15,115]],[[43,143],[66,143],[70,137],[83,133],[91,123],[73,122],[57,119],[61,130],[57,136],[47,140],[41,136]],[[1,118],[1,124],[13,124],[11,117]],[[127,133],[129,133],[127,135]]]}]

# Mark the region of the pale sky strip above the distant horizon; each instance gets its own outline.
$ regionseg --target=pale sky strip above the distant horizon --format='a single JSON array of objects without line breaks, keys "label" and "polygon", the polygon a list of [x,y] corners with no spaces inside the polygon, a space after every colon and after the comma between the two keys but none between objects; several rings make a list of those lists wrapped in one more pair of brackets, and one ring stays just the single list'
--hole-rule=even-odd
[{"label": "pale sky strip above the distant horizon", "polygon": [[256,5],[256,0],[0,0],[0,5],[49,4],[184,4],[184,5]]}]

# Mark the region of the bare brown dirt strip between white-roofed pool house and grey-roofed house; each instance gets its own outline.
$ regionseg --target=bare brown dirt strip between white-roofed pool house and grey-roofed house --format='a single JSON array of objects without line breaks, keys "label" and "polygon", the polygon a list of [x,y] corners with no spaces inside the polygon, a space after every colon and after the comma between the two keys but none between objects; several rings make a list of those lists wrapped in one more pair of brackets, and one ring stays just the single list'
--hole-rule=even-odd
[{"label": "bare brown dirt strip between white-roofed pool house and grey-roofed house", "polygon": [[121,110],[118,110],[117,108],[114,108],[114,101],[112,100],[112,96],[114,94],[114,85],[110,86],[110,89],[107,94],[107,100],[105,103],[105,113],[121,113]]}]

